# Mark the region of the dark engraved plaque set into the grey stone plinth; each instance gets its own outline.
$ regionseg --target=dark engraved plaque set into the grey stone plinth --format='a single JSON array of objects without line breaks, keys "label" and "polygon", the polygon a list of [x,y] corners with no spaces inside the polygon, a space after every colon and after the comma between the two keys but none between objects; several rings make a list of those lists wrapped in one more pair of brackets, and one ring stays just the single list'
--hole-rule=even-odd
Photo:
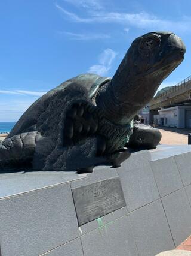
[{"label": "dark engraved plaque set into the grey stone plinth", "polygon": [[72,189],[72,194],[79,225],[126,206],[119,177]]}]

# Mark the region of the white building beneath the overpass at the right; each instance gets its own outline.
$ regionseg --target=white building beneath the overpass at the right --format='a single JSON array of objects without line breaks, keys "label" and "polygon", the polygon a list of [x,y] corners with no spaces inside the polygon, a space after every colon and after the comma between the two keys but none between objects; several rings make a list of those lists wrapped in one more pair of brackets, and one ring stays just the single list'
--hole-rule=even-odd
[{"label": "white building beneath the overpass at the right", "polygon": [[191,106],[168,107],[167,109],[158,110],[158,112],[159,125],[175,128],[191,128]]}]

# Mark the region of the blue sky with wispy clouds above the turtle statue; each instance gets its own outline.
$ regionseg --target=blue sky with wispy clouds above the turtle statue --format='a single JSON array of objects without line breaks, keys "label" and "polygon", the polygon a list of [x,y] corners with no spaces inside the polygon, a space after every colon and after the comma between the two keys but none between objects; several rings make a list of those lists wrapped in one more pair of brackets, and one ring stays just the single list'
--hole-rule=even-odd
[{"label": "blue sky with wispy clouds above the turtle statue", "polygon": [[191,1],[4,0],[0,2],[0,121],[17,121],[38,97],[81,73],[113,76],[134,38],[172,31],[183,63],[164,81],[190,76]]}]

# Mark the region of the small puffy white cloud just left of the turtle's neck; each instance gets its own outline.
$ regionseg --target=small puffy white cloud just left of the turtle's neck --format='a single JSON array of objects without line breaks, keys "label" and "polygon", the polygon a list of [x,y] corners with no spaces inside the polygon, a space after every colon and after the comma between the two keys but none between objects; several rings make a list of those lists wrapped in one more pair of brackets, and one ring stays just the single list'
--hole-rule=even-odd
[{"label": "small puffy white cloud just left of the turtle's neck", "polygon": [[110,48],[105,49],[98,58],[98,64],[91,66],[88,70],[88,73],[105,76],[112,67],[112,62],[115,59],[115,56],[115,51]]}]

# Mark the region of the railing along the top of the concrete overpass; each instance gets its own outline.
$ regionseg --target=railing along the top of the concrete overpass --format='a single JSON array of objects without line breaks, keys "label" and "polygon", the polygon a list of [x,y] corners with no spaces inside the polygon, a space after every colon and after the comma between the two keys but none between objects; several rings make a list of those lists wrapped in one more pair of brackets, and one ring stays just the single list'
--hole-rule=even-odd
[{"label": "railing along the top of the concrete overpass", "polygon": [[191,84],[191,76],[187,77],[186,79],[182,80],[181,82],[177,83],[176,85],[172,86],[170,89],[168,89],[165,92],[162,92],[162,94],[159,94],[155,97],[153,97],[151,104],[154,104],[156,101],[163,97],[167,97],[167,95],[171,94],[172,92],[180,91],[182,89],[186,89]]}]

